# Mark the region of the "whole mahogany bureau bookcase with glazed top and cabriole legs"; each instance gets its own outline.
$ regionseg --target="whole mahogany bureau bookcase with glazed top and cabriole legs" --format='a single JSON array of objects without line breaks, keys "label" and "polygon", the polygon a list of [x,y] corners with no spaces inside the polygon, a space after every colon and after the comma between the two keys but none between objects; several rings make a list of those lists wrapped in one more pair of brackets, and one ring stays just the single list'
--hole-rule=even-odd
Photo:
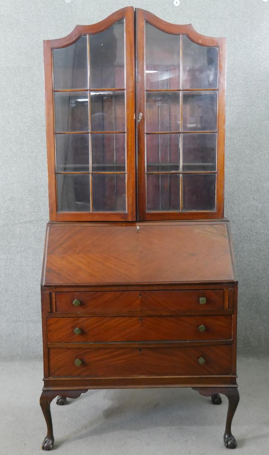
[{"label": "whole mahogany bureau bookcase with glazed top and cabriole legs", "polygon": [[237,445],[225,53],[224,38],[133,7],[44,41],[44,450],[57,395],[132,387],[225,394]]}]

